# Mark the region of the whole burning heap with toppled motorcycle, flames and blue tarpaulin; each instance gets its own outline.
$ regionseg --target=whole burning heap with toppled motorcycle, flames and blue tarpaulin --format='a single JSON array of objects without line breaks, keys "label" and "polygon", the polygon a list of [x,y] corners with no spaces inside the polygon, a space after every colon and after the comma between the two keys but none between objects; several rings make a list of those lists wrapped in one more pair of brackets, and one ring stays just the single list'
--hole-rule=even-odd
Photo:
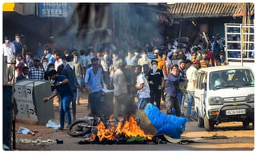
[{"label": "whole burning heap with toppled motorcycle, flames and blue tarpaulin", "polygon": [[137,112],[136,120],[134,116],[114,118],[113,115],[109,119],[106,116],[86,118],[74,121],[68,132],[72,136],[83,135],[85,139],[80,144],[167,143],[170,140],[166,137],[180,138],[186,121],[185,118],[166,115],[154,105],[147,104],[144,110]]}]

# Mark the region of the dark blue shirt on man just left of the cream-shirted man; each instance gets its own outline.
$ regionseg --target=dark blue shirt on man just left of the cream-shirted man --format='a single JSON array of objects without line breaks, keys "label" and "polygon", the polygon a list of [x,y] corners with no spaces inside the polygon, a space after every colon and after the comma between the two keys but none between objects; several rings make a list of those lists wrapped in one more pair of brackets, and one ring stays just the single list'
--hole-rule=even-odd
[{"label": "dark blue shirt on man just left of the cream-shirted man", "polygon": [[166,83],[166,94],[169,96],[178,96],[180,77],[175,77],[173,73],[168,74]]}]

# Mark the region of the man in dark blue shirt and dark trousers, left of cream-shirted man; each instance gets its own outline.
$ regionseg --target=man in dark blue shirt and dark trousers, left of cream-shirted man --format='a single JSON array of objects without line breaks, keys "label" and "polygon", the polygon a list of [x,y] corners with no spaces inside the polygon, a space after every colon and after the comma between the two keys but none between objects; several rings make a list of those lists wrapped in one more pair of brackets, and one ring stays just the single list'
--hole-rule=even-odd
[{"label": "man in dark blue shirt and dark trousers, left of cream-shirted man", "polygon": [[181,106],[178,101],[179,92],[178,65],[171,67],[171,73],[168,74],[166,83],[166,114],[172,114],[172,109],[175,108],[176,116],[181,116]]}]

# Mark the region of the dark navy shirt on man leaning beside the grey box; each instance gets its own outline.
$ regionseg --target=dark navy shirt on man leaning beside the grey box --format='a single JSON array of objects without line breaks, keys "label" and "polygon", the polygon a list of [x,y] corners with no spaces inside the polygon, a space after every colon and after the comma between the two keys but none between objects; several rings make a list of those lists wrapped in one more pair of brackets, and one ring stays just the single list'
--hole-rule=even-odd
[{"label": "dark navy shirt on man leaning beside the grey box", "polygon": [[61,84],[60,86],[56,86],[57,83],[62,82],[62,80],[65,80],[66,77],[63,75],[58,75],[58,77],[54,80],[54,88],[58,91],[58,94],[63,98],[64,96],[73,96],[73,93],[71,91],[70,85],[67,84]]}]

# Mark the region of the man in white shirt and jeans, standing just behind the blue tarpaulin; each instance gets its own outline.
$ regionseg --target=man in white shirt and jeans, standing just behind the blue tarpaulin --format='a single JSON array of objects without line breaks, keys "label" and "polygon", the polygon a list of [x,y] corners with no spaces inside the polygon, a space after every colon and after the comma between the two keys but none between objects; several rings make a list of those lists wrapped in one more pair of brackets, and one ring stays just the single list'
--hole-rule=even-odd
[{"label": "man in white shirt and jeans, standing just behind the blue tarpaulin", "polygon": [[142,109],[146,103],[150,102],[150,86],[146,77],[142,75],[141,65],[135,67],[134,73],[137,75],[135,88],[138,89],[138,109]]}]

